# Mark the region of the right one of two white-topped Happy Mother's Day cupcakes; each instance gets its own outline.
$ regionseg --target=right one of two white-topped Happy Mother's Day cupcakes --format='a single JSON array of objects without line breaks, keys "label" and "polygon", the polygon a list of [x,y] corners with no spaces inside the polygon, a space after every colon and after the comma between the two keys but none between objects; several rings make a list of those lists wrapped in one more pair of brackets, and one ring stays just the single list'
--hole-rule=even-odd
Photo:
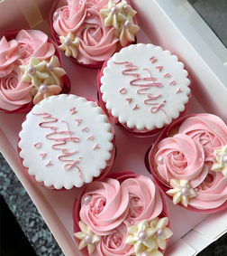
[{"label": "right one of two white-topped Happy Mother's Day cupcakes", "polygon": [[115,124],[154,136],[177,119],[190,98],[190,81],[177,56],[152,44],[114,54],[98,74],[99,102]]}]

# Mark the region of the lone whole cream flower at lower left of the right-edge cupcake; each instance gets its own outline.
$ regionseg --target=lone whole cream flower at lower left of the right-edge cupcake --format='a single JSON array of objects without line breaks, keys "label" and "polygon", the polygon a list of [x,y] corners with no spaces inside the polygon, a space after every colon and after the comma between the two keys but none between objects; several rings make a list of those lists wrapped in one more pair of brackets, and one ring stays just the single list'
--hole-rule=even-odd
[{"label": "lone whole cream flower at lower left of the right-edge cupcake", "polygon": [[187,207],[189,199],[196,196],[195,190],[189,185],[187,180],[178,181],[177,179],[171,179],[170,185],[173,186],[173,189],[168,190],[166,193],[173,196],[174,204],[181,202],[181,204]]}]

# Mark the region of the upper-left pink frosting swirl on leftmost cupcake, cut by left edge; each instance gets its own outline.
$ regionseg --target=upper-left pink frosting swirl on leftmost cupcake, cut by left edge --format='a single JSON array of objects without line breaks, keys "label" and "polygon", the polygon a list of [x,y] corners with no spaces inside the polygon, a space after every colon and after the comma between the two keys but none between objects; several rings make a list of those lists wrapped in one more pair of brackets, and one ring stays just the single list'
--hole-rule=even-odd
[{"label": "upper-left pink frosting swirl on leftmost cupcake, cut by left edge", "polygon": [[0,78],[5,77],[14,68],[14,62],[21,57],[21,51],[15,40],[7,41],[5,36],[0,42]]}]

